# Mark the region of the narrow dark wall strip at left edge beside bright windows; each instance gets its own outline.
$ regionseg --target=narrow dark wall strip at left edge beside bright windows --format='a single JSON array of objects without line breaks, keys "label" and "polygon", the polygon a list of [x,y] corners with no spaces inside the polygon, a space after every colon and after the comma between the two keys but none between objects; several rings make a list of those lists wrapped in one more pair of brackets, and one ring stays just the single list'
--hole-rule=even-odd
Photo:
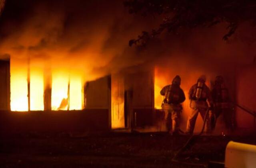
[{"label": "narrow dark wall strip at left edge beside bright windows", "polygon": [[0,60],[0,110],[10,110],[10,61]]}]

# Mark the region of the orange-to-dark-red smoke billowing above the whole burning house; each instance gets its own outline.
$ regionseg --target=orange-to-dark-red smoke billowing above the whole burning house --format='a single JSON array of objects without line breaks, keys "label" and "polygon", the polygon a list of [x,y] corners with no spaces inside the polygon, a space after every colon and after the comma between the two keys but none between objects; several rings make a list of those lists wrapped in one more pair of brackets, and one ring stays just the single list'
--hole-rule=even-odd
[{"label": "orange-to-dark-red smoke billowing above the whole burning house", "polygon": [[131,38],[157,23],[151,16],[128,14],[119,0],[9,0],[0,20],[0,55],[82,69],[88,78],[142,63],[223,69],[254,57],[256,35],[248,25],[228,43],[222,41],[223,24],[163,34],[146,47],[128,47]]}]

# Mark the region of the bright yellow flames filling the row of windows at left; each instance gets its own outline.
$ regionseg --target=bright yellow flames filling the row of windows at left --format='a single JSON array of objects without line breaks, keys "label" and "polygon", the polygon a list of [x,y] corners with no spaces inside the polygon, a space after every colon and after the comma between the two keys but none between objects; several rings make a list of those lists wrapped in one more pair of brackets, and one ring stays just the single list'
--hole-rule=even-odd
[{"label": "bright yellow flames filling the row of windows at left", "polygon": [[[44,67],[40,63],[11,59],[11,111],[44,110]],[[82,73],[53,69],[51,73],[52,110],[80,110],[84,107]],[[30,101],[29,101],[29,100]],[[29,108],[30,104],[30,108]]]}]

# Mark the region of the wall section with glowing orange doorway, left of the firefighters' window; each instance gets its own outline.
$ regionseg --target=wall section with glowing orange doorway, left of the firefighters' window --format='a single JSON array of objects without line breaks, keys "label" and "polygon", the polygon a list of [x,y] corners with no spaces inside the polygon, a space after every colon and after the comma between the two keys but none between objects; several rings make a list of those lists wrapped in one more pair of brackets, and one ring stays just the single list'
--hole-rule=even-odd
[{"label": "wall section with glowing orange doorway, left of the firefighters' window", "polygon": [[152,125],[154,110],[152,72],[144,70],[130,72],[128,69],[126,72],[112,74],[111,78],[112,128]]}]

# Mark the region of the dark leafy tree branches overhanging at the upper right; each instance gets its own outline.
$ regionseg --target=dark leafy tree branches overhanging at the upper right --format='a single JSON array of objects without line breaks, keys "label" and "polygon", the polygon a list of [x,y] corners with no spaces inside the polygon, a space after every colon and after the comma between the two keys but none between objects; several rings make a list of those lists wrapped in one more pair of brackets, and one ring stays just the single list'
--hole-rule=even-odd
[{"label": "dark leafy tree branches overhanging at the upper right", "polygon": [[129,41],[130,46],[144,44],[163,31],[178,33],[182,29],[210,27],[223,22],[228,24],[223,39],[228,40],[242,22],[256,25],[255,0],[125,0],[124,6],[130,14],[162,18],[158,28],[142,31],[137,39]]}]

